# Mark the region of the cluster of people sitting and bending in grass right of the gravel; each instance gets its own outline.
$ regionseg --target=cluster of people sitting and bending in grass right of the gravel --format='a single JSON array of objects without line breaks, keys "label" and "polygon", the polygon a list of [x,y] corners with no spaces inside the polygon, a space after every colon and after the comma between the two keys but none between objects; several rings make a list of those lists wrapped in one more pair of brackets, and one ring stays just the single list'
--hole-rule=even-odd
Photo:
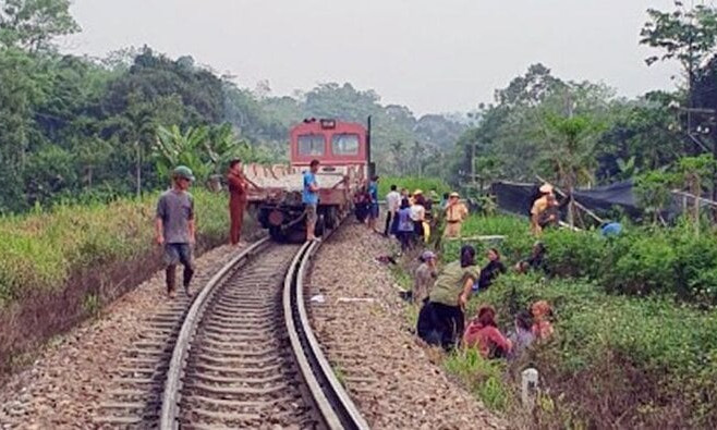
[{"label": "cluster of people sitting and bending in grass right of the gravel", "polygon": [[[528,258],[515,265],[515,270],[544,270],[546,248],[536,243]],[[496,322],[496,311],[483,306],[465,324],[465,309],[472,294],[490,287],[507,268],[497,248],[486,253],[488,262],[479,268],[472,245],[464,245],[460,258],[438,268],[438,257],[424,251],[415,270],[412,300],[421,306],[416,332],[429,345],[449,351],[457,346],[476,348],[485,358],[517,358],[536,340],[552,335],[549,304],[536,302],[530,309],[515,315],[513,327],[503,334]]]}]

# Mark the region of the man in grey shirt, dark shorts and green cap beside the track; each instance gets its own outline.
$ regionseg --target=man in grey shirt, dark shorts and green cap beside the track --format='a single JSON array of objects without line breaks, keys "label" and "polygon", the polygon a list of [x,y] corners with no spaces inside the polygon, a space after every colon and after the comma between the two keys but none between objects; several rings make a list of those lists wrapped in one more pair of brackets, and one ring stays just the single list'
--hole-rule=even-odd
[{"label": "man in grey shirt, dark shorts and green cap beside the track", "polygon": [[165,247],[167,294],[177,296],[177,265],[184,266],[184,292],[190,295],[194,274],[192,245],[195,242],[194,199],[187,192],[194,181],[192,171],[180,165],[172,172],[172,188],[162,193],[157,202],[157,244]]}]

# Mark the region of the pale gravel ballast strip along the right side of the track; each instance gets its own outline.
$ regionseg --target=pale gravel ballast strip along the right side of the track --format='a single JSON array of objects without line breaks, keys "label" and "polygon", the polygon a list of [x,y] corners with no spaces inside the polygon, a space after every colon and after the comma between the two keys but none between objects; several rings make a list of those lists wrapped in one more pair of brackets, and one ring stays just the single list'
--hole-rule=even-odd
[{"label": "pale gravel ballast strip along the right side of the track", "polygon": [[505,428],[411,334],[410,305],[376,261],[391,254],[392,242],[353,223],[317,256],[309,293],[324,302],[311,302],[312,320],[339,379],[373,429]]}]

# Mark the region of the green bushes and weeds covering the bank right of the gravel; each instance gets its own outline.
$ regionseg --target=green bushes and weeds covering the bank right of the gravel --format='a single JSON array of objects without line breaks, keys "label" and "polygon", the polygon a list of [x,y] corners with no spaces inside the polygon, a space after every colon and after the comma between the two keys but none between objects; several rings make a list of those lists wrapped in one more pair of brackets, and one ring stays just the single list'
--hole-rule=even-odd
[{"label": "green bushes and weeds covering the bank right of the gravel", "polygon": [[[511,217],[472,217],[464,235],[477,234],[507,235],[499,246],[507,265],[534,242],[526,221]],[[471,300],[467,316],[490,304],[500,327],[509,328],[517,310],[547,299],[556,311],[555,339],[510,367],[460,353],[446,359],[447,369],[488,406],[518,411],[520,371],[534,365],[549,391],[523,425],[717,428],[714,234],[629,226],[612,239],[570,231],[542,239],[551,277],[502,277]],[[455,259],[459,246],[445,244],[443,259]],[[507,369],[515,383],[505,383]]]}]

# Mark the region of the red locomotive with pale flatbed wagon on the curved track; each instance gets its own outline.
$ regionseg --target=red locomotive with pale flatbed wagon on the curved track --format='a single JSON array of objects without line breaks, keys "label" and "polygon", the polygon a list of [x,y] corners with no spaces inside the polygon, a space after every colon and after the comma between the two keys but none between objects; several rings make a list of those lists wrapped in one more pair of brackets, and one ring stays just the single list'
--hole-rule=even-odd
[{"label": "red locomotive with pale flatbed wagon on the curved track", "polygon": [[246,176],[262,187],[248,193],[262,226],[276,241],[304,239],[303,173],[318,160],[316,234],[336,228],[353,210],[353,197],[369,176],[369,132],[358,123],[312,119],[292,127],[289,165],[246,167]]}]

